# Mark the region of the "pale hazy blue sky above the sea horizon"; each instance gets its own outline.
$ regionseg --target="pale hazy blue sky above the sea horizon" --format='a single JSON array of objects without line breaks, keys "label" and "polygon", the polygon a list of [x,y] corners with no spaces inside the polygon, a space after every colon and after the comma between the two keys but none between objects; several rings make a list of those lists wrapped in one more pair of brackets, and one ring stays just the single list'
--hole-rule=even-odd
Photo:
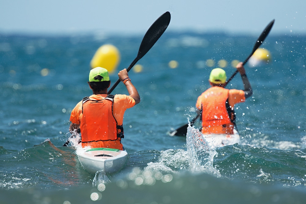
[{"label": "pale hazy blue sky above the sea horizon", "polygon": [[0,33],[145,33],[166,11],[168,31],[306,34],[306,0],[0,0]]}]

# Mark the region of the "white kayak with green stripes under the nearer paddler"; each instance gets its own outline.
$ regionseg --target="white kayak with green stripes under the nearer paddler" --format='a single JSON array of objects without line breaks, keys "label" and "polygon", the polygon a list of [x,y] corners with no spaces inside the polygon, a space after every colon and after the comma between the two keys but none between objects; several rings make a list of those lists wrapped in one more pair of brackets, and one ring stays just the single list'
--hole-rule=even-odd
[{"label": "white kayak with green stripes under the nearer paddler", "polygon": [[125,165],[128,153],[123,150],[110,148],[91,148],[78,151],[77,156],[86,171],[96,173],[97,171],[114,174]]}]

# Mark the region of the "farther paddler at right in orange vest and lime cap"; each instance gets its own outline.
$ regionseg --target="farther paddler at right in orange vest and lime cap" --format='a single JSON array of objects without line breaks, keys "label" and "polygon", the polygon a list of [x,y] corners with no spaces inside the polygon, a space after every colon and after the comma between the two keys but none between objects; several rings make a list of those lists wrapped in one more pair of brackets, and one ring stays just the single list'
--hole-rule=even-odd
[{"label": "farther paddler at right in orange vest and lime cap", "polygon": [[236,126],[234,106],[253,94],[242,62],[236,68],[241,74],[244,90],[225,89],[225,71],[220,68],[211,71],[209,83],[212,87],[202,93],[196,102],[197,112],[202,116],[203,134],[233,134]]}]

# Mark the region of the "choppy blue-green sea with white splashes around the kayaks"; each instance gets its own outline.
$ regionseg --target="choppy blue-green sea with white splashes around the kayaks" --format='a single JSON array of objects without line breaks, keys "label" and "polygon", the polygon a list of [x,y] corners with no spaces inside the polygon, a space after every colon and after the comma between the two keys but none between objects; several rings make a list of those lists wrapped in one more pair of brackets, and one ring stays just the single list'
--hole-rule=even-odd
[{"label": "choppy blue-green sea with white splashes around the kayaks", "polygon": [[[211,69],[223,62],[232,75],[231,63],[247,58],[260,32],[166,30],[137,62],[142,71],[129,71],[141,102],[125,112],[126,165],[108,176],[87,173],[76,148],[62,146],[70,112],[92,94],[95,51],[120,51],[113,84],[144,34],[0,34],[0,203],[305,203],[306,35],[272,28],[261,45],[271,59],[245,65],[253,96],[235,106],[242,144],[197,144],[190,138],[199,121],[187,137],[169,135],[196,116]],[[241,77],[227,88],[243,89]],[[128,94],[122,83],[116,93]]]}]

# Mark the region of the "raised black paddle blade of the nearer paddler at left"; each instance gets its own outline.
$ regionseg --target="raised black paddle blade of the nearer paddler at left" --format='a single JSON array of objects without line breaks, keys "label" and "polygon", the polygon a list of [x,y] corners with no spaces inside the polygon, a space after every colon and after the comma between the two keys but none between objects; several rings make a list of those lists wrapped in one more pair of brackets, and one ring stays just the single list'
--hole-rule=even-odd
[{"label": "raised black paddle blade of the nearer paddler at left", "polygon": [[170,23],[170,19],[170,12],[167,11],[159,16],[159,18],[151,25],[140,44],[137,55],[138,60],[140,60],[153,47],[155,42],[157,42],[160,36],[162,36],[162,34],[166,31]]}]

